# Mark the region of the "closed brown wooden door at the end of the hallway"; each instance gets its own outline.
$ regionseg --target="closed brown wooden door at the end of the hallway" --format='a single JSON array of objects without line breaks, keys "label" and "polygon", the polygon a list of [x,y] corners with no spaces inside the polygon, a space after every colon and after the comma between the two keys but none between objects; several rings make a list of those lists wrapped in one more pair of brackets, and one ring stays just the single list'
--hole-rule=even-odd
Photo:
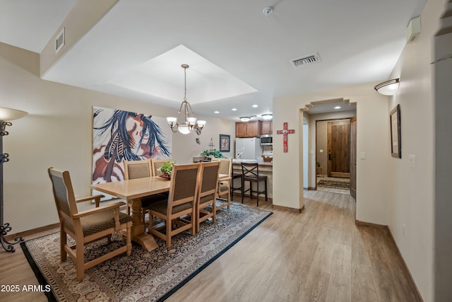
[{"label": "closed brown wooden door at the end of the hallway", "polygon": [[350,119],[328,122],[328,176],[350,178]]}]

